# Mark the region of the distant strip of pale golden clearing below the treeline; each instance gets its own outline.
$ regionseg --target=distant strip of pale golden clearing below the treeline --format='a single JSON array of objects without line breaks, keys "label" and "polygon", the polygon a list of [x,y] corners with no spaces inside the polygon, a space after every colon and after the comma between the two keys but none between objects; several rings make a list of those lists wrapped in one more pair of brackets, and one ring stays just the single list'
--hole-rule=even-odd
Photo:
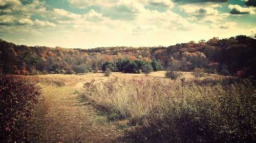
[{"label": "distant strip of pale golden clearing below the treeline", "polygon": [[[166,71],[157,71],[152,72],[148,74],[148,76],[145,76],[144,74],[134,74],[134,73],[122,73],[122,72],[112,72],[109,77],[104,76],[104,73],[86,73],[86,74],[46,74],[46,75],[15,75],[16,77],[22,77],[25,79],[28,79],[30,81],[39,81],[42,84],[52,84],[52,85],[74,85],[77,82],[89,82],[91,80],[97,80],[97,81],[104,81],[108,80],[109,78],[118,77],[118,78],[124,78],[124,79],[130,79],[130,78],[165,78],[165,72]],[[185,77],[188,80],[196,79],[192,72],[181,72],[182,77]],[[205,78],[212,78],[212,79],[221,79],[224,77],[230,77],[230,76],[224,76],[224,75],[218,75],[218,74],[205,74],[205,77],[202,77],[200,79]]]}]

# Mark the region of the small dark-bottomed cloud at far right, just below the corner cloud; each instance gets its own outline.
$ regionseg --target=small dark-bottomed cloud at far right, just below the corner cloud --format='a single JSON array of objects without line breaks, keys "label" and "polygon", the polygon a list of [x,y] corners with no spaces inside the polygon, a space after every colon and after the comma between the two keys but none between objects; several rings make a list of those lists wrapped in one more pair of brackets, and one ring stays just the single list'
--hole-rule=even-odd
[{"label": "small dark-bottomed cloud at far right, just below the corner cloud", "polygon": [[243,8],[239,5],[229,5],[230,14],[254,14],[253,8]]}]

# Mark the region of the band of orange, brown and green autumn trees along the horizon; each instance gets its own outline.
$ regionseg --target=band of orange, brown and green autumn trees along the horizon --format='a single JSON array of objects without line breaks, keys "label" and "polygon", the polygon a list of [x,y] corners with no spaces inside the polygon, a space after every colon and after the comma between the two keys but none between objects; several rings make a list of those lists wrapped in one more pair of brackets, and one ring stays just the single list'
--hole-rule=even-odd
[{"label": "band of orange, brown and green autumn trees along the horizon", "polygon": [[1,40],[0,70],[6,74],[72,74],[98,72],[104,70],[103,64],[109,62],[113,64],[113,71],[139,73],[143,70],[141,65],[150,63],[154,68],[152,62],[156,62],[161,65],[160,69],[191,71],[200,68],[207,73],[251,76],[256,73],[255,45],[255,37],[242,35],[228,39],[214,37],[208,41],[190,41],[168,47],[94,49],[28,47]]}]

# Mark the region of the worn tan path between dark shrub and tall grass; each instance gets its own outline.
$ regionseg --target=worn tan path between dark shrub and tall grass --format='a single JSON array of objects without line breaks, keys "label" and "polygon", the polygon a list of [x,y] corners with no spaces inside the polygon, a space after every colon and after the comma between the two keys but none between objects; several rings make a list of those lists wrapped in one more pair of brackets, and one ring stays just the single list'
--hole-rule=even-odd
[{"label": "worn tan path between dark shrub and tall grass", "polygon": [[123,130],[81,98],[83,83],[46,87],[36,107],[39,142],[121,142]]}]

